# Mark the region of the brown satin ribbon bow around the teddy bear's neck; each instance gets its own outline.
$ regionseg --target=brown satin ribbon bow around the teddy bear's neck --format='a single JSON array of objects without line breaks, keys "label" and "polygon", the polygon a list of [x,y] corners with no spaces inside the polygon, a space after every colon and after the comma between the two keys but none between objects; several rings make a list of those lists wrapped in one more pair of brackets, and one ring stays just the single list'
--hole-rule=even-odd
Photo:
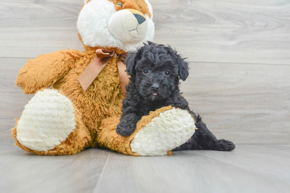
[{"label": "brown satin ribbon bow around the teddy bear's neck", "polygon": [[123,91],[123,95],[126,93],[126,85],[129,83],[129,75],[125,72],[126,65],[120,59],[120,55],[117,55],[115,51],[105,50],[105,49],[97,49],[96,57],[89,63],[83,73],[80,75],[78,81],[82,86],[83,90],[86,91],[91,83],[95,80],[95,78],[99,75],[99,73],[103,70],[103,68],[108,64],[111,58],[115,56],[117,57],[117,66],[120,76],[121,88]]}]

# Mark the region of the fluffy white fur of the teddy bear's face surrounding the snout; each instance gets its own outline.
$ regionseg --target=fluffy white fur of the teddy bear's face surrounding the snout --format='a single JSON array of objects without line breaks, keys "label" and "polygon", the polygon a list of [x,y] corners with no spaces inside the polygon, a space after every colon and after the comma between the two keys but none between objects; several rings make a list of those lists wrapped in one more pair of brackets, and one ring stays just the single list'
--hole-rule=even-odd
[{"label": "fluffy white fur of the teddy bear's face surrounding the snout", "polygon": [[[146,3],[151,7],[148,1]],[[142,46],[143,42],[153,41],[154,23],[152,18],[146,14],[147,33],[145,38],[137,43],[125,43],[109,32],[108,23],[113,14],[117,11],[114,4],[108,0],[91,0],[85,5],[78,17],[78,32],[83,43],[89,47],[118,47],[126,52],[136,50],[136,47]],[[98,14],[96,14],[98,13]],[[151,13],[152,14],[152,13]]]}]

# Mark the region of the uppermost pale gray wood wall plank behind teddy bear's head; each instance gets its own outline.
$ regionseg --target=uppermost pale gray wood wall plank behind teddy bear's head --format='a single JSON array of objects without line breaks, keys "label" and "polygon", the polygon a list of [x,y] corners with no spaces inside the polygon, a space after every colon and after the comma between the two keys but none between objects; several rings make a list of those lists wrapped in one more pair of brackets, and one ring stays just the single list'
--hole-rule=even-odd
[{"label": "uppermost pale gray wood wall plank behind teddy bear's head", "polygon": [[[1,0],[0,57],[36,57],[80,49],[83,1]],[[155,42],[189,61],[290,64],[290,4],[285,0],[151,0]]]}]

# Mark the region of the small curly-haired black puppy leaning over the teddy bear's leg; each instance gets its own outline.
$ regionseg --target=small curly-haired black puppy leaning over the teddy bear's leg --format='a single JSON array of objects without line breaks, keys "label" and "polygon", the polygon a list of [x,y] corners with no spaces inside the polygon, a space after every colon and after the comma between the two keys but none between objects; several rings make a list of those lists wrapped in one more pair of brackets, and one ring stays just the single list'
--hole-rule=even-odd
[{"label": "small curly-haired black puppy leaning over the teddy bear's leg", "polygon": [[123,100],[123,114],[116,128],[117,133],[122,136],[131,135],[142,116],[171,105],[188,110],[198,128],[186,143],[173,151],[235,149],[235,144],[231,141],[217,140],[202,122],[201,117],[189,109],[188,102],[181,96],[179,80],[186,80],[189,67],[177,51],[170,46],[148,42],[144,43],[143,47],[139,47],[136,52],[130,53],[125,64],[131,78],[126,87],[128,98]]}]

